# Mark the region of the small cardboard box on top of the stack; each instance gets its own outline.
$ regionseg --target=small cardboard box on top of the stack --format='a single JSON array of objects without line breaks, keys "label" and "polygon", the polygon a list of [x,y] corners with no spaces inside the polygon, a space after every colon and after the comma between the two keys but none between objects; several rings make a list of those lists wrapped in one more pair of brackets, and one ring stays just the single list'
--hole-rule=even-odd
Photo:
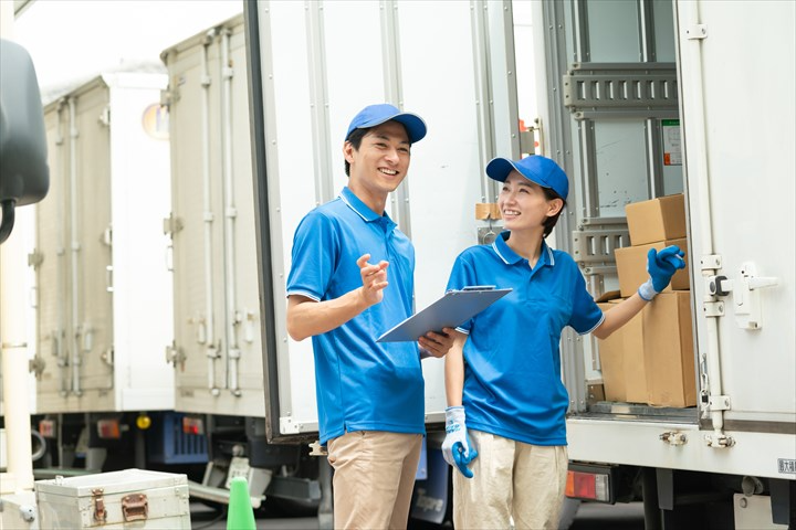
[{"label": "small cardboard box on top of the stack", "polygon": [[632,202],[625,206],[633,246],[685,237],[685,199],[682,193]]}]

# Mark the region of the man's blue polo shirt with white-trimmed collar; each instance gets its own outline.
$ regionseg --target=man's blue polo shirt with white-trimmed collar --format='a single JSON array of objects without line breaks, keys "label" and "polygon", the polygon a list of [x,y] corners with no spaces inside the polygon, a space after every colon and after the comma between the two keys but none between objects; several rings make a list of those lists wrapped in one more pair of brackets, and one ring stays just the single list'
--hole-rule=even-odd
[{"label": "man's blue polo shirt with white-trimmed collar", "polygon": [[312,338],[322,444],[353,431],[425,433],[417,342],[376,342],[412,310],[415,247],[396,223],[344,188],[298,224],[287,296],[323,301],[362,287],[363,254],[371,264],[389,262],[389,285],[379,304]]}]

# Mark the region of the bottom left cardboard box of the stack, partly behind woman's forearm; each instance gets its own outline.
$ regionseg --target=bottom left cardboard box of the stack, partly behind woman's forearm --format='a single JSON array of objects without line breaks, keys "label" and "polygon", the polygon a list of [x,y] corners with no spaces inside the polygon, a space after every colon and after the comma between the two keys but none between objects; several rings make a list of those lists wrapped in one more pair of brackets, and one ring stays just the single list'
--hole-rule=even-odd
[{"label": "bottom left cardboard box of the stack, partly behind woman's forearm", "polygon": [[[597,304],[604,311],[624,301]],[[600,371],[607,401],[647,403],[647,370],[643,350],[643,311],[610,337],[599,340]]]}]

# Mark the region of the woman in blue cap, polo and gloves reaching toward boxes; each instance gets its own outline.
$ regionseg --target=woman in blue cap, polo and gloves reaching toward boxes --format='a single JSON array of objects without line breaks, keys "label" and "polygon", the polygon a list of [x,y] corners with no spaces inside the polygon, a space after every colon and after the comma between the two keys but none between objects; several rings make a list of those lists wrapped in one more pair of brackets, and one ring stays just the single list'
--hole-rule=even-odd
[{"label": "woman in blue cap, polo and gloves reaching toward boxes", "polygon": [[[569,189],[551,159],[495,158],[486,174],[503,188],[498,205],[506,231],[457,258],[449,289],[495,285],[513,290],[457,328],[446,358],[446,460],[453,474],[455,528],[558,528],[567,473],[568,395],[558,343],[569,326],[608,337],[669,285],[684,266],[667,247],[648,256],[650,279],[603,311],[575,261],[545,243]],[[469,434],[468,434],[469,433]]]}]

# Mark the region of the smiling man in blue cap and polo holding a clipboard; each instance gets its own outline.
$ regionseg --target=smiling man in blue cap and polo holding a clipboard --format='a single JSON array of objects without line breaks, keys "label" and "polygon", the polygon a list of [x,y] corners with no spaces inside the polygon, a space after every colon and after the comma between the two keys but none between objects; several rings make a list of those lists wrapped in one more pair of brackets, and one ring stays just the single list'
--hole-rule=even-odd
[{"label": "smiling man in blue cap and polo holding a clipboard", "polygon": [[423,120],[392,105],[357,114],[343,144],[348,186],[293,240],[287,331],[312,337],[321,443],[334,473],[335,528],[406,528],[425,434],[421,354],[449,335],[376,342],[411,315],[415,247],[385,212]]}]

